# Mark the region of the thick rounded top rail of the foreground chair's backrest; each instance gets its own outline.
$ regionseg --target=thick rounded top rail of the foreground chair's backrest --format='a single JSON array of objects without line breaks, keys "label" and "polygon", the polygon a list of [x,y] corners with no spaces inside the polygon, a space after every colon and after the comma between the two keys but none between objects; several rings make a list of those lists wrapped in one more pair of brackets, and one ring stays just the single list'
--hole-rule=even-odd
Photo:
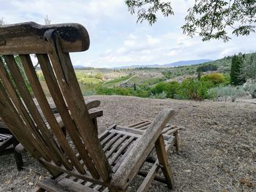
[{"label": "thick rounded top rail of the foreground chair's backrest", "polygon": [[77,23],[41,26],[19,23],[0,27],[1,55],[47,53],[45,31],[54,29],[59,34],[64,53],[88,50],[90,41],[86,28]]}]

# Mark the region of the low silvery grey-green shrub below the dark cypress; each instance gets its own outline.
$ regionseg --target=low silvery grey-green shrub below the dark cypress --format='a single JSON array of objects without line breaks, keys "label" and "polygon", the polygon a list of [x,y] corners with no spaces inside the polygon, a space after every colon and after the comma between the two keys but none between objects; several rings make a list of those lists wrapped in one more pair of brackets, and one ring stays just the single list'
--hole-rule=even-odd
[{"label": "low silvery grey-green shrub below the dark cypress", "polygon": [[217,88],[211,88],[208,91],[208,96],[211,99],[214,99],[214,101],[222,101],[225,99],[227,101],[227,98],[230,97],[232,101],[234,102],[236,98],[240,96],[245,96],[246,92],[244,91],[244,88],[242,86],[225,86],[225,87],[217,87]]}]

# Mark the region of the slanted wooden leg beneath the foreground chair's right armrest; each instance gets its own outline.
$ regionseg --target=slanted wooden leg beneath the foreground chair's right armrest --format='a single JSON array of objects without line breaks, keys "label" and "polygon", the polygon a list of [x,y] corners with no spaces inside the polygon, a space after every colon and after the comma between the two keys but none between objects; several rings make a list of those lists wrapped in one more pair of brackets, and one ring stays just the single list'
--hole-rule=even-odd
[{"label": "slanted wooden leg beneath the foreground chair's right armrest", "polygon": [[158,137],[157,142],[155,143],[157,150],[157,157],[159,164],[162,168],[162,172],[165,175],[165,180],[170,189],[174,188],[173,174],[170,168],[170,164],[167,159],[167,153],[165,150],[165,140],[162,134]]}]

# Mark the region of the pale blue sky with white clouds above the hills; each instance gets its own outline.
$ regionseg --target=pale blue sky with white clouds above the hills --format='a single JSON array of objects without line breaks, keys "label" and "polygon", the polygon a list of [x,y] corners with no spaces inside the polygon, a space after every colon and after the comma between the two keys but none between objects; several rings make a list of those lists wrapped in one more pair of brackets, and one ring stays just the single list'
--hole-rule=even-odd
[{"label": "pale blue sky with white clouds above the hills", "polygon": [[230,42],[187,37],[181,26],[195,0],[171,1],[174,16],[159,15],[157,23],[137,23],[124,0],[0,0],[0,18],[6,23],[34,21],[80,23],[89,32],[91,45],[82,53],[71,53],[74,65],[116,67],[170,64],[195,59],[218,59],[234,53],[255,52],[256,34],[232,37]]}]

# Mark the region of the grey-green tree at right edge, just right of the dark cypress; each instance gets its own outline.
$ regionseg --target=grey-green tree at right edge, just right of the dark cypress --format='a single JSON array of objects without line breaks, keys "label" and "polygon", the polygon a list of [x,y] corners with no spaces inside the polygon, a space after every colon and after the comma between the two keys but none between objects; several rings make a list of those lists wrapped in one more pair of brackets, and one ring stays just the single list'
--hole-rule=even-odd
[{"label": "grey-green tree at right edge, just right of the dark cypress", "polygon": [[244,58],[244,62],[241,65],[240,78],[256,80],[256,53]]}]

